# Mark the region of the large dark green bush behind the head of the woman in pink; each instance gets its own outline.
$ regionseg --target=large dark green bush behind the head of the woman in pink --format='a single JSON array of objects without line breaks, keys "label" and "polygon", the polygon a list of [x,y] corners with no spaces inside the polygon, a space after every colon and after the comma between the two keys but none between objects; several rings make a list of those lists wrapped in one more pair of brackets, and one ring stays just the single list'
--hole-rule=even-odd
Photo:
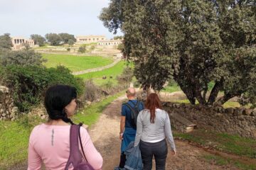
[{"label": "large dark green bush behind the head of the woman in pink", "polygon": [[47,69],[38,66],[9,65],[4,67],[4,85],[14,96],[14,104],[19,111],[30,111],[33,105],[43,100],[43,94],[53,84],[67,84],[82,94],[82,79],[75,78],[65,67]]}]

